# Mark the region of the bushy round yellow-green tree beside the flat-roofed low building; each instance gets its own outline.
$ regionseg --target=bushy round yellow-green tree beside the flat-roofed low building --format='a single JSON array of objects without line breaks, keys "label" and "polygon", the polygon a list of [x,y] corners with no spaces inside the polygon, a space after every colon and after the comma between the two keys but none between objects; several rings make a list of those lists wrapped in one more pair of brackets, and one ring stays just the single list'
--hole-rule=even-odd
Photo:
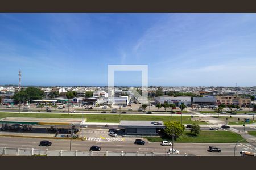
[{"label": "bushy round yellow-green tree beside the flat-roofed low building", "polygon": [[185,126],[181,125],[180,122],[168,121],[164,125],[166,126],[166,128],[163,130],[163,132],[168,137],[172,137],[172,134],[174,134],[175,137],[180,137],[185,130]]}]

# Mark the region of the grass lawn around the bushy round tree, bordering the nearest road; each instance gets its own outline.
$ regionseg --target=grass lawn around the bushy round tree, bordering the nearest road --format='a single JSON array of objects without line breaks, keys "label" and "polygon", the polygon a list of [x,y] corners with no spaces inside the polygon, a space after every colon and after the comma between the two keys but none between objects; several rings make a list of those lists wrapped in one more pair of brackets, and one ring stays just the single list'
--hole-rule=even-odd
[{"label": "grass lawn around the bushy round tree, bordering the nearest road", "polygon": [[[162,142],[163,140],[171,141],[171,138],[162,137],[145,137],[150,142]],[[177,138],[175,142],[179,143],[235,143],[242,140],[240,134],[230,131],[201,131],[199,136],[193,137],[189,135],[189,131]]]}]

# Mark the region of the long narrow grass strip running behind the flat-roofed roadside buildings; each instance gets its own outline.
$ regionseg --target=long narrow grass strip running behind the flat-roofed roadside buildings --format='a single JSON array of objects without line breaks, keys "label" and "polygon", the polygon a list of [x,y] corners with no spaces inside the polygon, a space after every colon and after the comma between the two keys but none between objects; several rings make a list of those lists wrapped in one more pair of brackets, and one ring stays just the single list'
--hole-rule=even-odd
[{"label": "long narrow grass strip running behind the flat-roofed roadside buildings", "polygon": [[[82,118],[81,114],[43,114],[43,113],[0,113],[0,118],[5,117],[42,117],[42,118]],[[84,118],[87,118],[87,122],[119,122],[119,114],[117,115],[102,115],[102,114],[84,114]],[[144,120],[144,121],[178,121],[180,122],[180,116],[151,116],[151,115],[123,115],[121,114],[121,120]],[[183,116],[183,124],[207,124],[205,122],[191,121],[191,116]]]}]

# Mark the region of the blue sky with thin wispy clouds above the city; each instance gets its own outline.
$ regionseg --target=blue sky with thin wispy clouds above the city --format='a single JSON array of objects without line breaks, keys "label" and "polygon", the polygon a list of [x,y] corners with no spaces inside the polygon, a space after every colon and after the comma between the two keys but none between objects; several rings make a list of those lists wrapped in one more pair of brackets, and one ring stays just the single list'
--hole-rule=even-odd
[{"label": "blue sky with thin wispy clouds above the city", "polygon": [[[0,14],[0,84],[255,86],[256,14]],[[140,86],[139,71],[116,85]]]}]

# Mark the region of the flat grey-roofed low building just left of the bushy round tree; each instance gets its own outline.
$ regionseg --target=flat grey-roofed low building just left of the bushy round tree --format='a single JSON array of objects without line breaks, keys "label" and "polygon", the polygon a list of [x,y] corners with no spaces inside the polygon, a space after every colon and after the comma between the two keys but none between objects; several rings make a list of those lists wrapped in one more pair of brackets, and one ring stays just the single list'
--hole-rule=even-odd
[{"label": "flat grey-roofed low building just left of the bushy round tree", "polygon": [[120,121],[119,128],[125,128],[125,135],[158,135],[166,126],[163,121]]}]

